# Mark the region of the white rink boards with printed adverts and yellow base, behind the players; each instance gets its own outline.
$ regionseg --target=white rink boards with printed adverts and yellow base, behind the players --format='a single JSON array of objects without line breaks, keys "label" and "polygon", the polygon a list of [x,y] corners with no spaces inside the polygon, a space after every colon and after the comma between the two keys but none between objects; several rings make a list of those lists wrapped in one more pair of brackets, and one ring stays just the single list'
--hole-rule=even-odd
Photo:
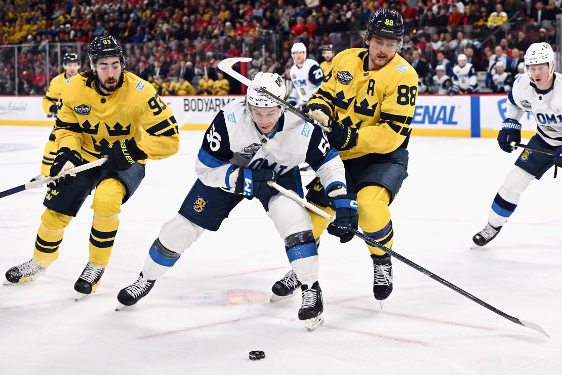
[{"label": "white rink boards with printed adverts and yellow base, behind the players", "polygon": [[[241,96],[166,96],[182,130],[206,129],[229,101]],[[43,112],[42,97],[0,97],[0,125],[51,126],[53,118]],[[496,137],[506,114],[505,95],[420,95],[411,127],[413,135],[450,137]],[[521,120],[524,136],[536,129],[533,118]]]}]

